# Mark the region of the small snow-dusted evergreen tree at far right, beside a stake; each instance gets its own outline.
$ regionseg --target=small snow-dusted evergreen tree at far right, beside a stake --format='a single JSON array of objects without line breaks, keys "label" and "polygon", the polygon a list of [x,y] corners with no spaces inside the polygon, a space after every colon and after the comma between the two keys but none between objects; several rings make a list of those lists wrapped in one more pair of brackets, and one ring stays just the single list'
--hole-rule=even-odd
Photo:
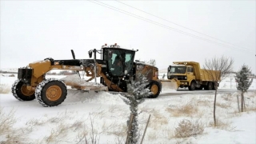
[{"label": "small snow-dusted evergreen tree at far right, beside a stake", "polygon": [[243,112],[245,109],[245,98],[244,93],[247,92],[250,85],[253,82],[253,78],[249,79],[249,75],[251,74],[251,70],[245,64],[242,65],[241,69],[235,74],[234,78],[236,82],[238,82],[237,89],[241,91],[241,111]]}]

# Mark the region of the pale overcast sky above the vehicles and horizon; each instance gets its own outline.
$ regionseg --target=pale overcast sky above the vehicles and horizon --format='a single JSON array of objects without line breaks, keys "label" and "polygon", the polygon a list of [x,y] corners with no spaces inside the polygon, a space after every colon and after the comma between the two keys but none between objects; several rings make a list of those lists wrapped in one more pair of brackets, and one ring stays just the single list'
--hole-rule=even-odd
[{"label": "pale overcast sky above the vehicles and horizon", "polygon": [[88,50],[118,43],[135,59],[234,58],[256,74],[255,1],[0,1],[1,68],[44,58],[86,59]]}]

